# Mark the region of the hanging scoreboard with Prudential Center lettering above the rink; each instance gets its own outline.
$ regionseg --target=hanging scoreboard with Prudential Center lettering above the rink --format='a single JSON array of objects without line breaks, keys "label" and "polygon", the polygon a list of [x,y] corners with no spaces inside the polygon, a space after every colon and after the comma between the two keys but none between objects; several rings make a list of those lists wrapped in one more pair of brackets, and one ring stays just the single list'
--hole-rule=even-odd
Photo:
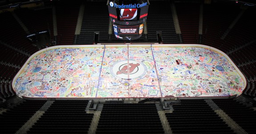
[{"label": "hanging scoreboard with Prudential Center lettering above the rink", "polygon": [[108,10],[115,37],[127,41],[141,37],[148,7],[146,0],[109,1]]}]

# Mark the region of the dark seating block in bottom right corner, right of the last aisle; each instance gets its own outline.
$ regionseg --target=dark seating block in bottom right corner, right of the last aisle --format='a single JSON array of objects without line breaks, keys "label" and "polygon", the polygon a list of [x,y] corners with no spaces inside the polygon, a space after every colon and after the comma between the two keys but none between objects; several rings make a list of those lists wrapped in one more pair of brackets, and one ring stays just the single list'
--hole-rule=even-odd
[{"label": "dark seating block in bottom right corner, right of the last aisle", "polygon": [[213,102],[215,102],[221,110],[228,114],[228,116],[241,126],[248,134],[255,134],[255,110],[237,102],[234,99],[213,99]]}]

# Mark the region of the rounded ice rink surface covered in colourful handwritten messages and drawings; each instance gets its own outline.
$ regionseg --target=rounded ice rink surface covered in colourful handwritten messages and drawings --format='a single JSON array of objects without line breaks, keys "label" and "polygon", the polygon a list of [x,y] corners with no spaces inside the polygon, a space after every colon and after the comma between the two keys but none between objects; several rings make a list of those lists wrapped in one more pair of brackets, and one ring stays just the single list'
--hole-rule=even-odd
[{"label": "rounded ice rink surface covered in colourful handwritten messages and drawings", "polygon": [[219,97],[246,79],[206,45],[69,45],[33,54],[13,79],[19,97]]}]

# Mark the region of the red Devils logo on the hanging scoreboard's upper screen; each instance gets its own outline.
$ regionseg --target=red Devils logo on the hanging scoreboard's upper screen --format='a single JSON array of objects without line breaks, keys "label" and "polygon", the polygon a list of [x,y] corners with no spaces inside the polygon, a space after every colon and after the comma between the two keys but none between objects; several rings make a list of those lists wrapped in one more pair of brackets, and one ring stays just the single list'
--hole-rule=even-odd
[{"label": "red Devils logo on the hanging scoreboard's upper screen", "polygon": [[120,9],[120,20],[137,20],[137,9]]}]

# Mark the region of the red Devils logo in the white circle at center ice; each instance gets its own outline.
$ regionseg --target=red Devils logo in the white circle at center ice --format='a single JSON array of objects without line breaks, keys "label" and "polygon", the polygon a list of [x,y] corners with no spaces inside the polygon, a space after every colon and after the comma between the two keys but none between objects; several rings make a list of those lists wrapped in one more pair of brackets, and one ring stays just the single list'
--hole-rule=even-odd
[{"label": "red Devils logo in the white circle at center ice", "polygon": [[[129,64],[129,72],[128,72],[128,65],[123,64],[123,65],[121,65],[119,67],[119,71],[117,72],[117,75],[118,74],[122,74],[122,73],[124,73],[124,74],[128,74],[128,73],[134,74],[134,73],[137,73],[139,65],[140,65],[139,63],[137,63],[137,64],[130,63]],[[121,67],[122,67],[122,69],[120,69]],[[134,69],[136,69],[136,71],[134,71]]]}]

